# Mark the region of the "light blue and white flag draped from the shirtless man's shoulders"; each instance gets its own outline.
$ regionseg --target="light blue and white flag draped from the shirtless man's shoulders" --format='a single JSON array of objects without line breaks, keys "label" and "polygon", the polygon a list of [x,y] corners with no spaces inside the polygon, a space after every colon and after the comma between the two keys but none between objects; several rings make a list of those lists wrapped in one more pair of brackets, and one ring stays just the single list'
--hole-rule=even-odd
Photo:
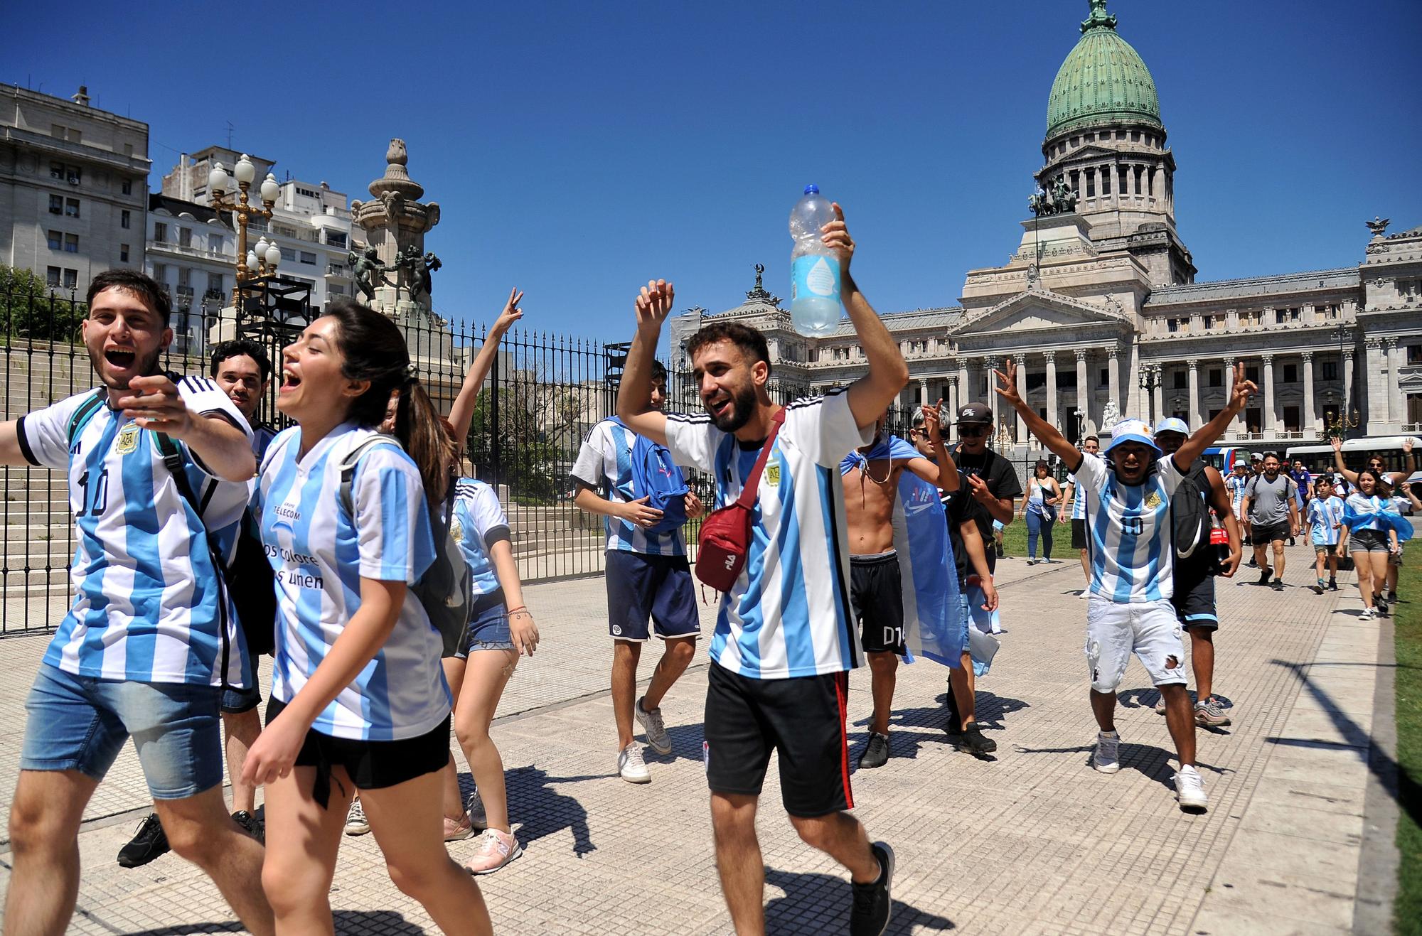
[{"label": "light blue and white flag draped from the shirtless man's shoulders", "polygon": [[[852,451],[839,462],[839,474],[866,469],[870,461],[909,461],[923,455],[902,438],[877,438],[867,452]],[[913,474],[899,475],[893,505],[893,546],[903,580],[903,642],[912,663],[916,656],[961,666],[963,633],[958,626],[958,573],[948,542],[939,489]]]}]

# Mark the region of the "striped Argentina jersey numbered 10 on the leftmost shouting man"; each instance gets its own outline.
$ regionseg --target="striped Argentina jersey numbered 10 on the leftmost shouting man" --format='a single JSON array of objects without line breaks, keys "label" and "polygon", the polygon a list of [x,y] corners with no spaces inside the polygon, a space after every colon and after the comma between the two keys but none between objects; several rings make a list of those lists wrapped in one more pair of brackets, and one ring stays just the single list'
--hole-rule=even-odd
[{"label": "striped Argentina jersey numbered 10 on the leftmost shouting man", "polygon": [[[205,377],[175,381],[189,410],[250,427]],[[74,414],[98,391],[81,393],[18,421],[20,451],[33,465],[68,471],[78,546],[70,568],[74,605],[44,652],[65,673],[139,683],[252,684],[242,629],[208,548],[242,519],[247,485],[222,481],[186,445],[183,472],[202,516],[182,496],[154,432],[107,404]],[[206,525],[206,526],[205,526]]]}]

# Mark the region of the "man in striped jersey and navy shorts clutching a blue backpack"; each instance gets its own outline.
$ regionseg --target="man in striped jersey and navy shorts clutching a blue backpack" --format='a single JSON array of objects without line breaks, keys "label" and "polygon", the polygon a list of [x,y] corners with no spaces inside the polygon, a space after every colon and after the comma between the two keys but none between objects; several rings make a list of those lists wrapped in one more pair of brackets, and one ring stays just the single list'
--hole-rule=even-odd
[{"label": "man in striped jersey and navy shorts clutching a blue backpack", "polygon": [[[667,398],[667,370],[660,361],[651,368],[651,405]],[[661,700],[687,671],[697,653],[701,617],[697,592],[687,565],[687,543],[681,529],[650,529],[661,511],[648,506],[648,496],[633,489],[631,457],[637,434],[617,420],[593,427],[573,462],[573,504],[589,514],[602,514],[607,529],[607,629],[613,637],[613,718],[617,721],[617,775],[630,784],[651,782],[651,771],[633,743],[633,717],[647,733],[657,754],[671,752],[671,737],[661,720]],[[599,496],[603,489],[607,496]],[[687,495],[687,515],[700,514],[701,502]],[[648,627],[648,620],[651,627]],[[637,661],[641,644],[653,629],[663,640],[661,660],[651,673],[647,693],[637,698]]]}]

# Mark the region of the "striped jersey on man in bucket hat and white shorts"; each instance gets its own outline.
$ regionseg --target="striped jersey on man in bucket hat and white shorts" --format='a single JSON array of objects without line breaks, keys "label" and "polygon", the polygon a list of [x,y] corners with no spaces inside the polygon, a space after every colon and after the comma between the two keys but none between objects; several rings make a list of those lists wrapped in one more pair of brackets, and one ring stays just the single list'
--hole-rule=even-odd
[{"label": "striped jersey on man in bucket hat and white shorts", "polygon": [[1076,479],[1086,491],[1092,595],[1125,605],[1175,593],[1170,498],[1182,478],[1165,455],[1142,484],[1122,484],[1105,459],[1082,452]]}]

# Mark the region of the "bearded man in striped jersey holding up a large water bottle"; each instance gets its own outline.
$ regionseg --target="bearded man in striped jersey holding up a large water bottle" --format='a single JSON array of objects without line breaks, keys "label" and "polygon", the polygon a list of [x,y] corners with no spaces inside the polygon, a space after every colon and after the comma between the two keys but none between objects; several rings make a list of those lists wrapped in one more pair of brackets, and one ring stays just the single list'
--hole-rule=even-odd
[{"label": "bearded man in striped jersey holding up a large water bottle", "polygon": [[[637,337],[627,356],[617,415],[665,442],[673,455],[712,472],[717,504],[735,501],[765,440],[776,431],[751,511],[751,542],[732,589],[721,597],[711,639],[702,752],[711,787],[717,869],[738,933],[765,932],[765,862],[755,811],[771,752],[779,754],[781,797],[801,838],[849,869],[849,932],[889,926],[893,852],[870,844],[846,812],[848,671],[863,652],[849,602],[849,545],[839,462],[873,438],[875,420],[909,381],[899,346],[849,275],[853,240],[839,205],[822,229],[833,250],[840,294],[869,361],[849,388],[772,403],[765,336],[714,323],[687,354],[705,413],[648,410],[651,360],[673,289],[654,280],[637,299]],[[782,420],[782,422],[778,422]]]}]

